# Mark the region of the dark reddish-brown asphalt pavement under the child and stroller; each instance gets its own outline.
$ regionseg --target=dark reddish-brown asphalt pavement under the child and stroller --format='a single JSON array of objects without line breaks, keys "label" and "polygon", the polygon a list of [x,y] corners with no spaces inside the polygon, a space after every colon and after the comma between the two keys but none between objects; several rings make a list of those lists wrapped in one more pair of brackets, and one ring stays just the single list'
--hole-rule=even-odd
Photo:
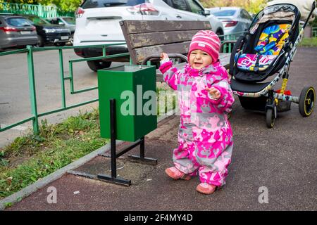
[{"label": "dark reddish-brown asphalt pavement under the child and stroller", "polygon": [[[304,86],[317,89],[316,62],[317,48],[298,49],[287,85],[292,94],[299,96]],[[131,179],[131,186],[65,174],[7,210],[317,210],[317,112],[302,117],[292,103],[268,129],[264,114],[244,110],[236,101],[230,122],[232,163],[225,186],[212,195],[197,193],[198,178],[166,176],[179,123],[171,116],[146,136],[146,156],[157,158],[158,165],[130,162],[129,153],[118,159],[118,176]],[[109,169],[110,160],[97,156],[77,171],[110,174]],[[48,201],[49,187],[56,188],[56,203]]]}]

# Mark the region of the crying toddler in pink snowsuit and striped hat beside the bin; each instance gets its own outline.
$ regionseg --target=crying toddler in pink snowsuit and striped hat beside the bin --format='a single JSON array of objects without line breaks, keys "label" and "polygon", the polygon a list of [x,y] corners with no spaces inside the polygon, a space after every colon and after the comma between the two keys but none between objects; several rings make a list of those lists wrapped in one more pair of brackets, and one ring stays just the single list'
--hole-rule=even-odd
[{"label": "crying toddler in pink snowsuit and striped hat beside the bin", "polygon": [[211,194],[225,184],[232,153],[232,129],[227,114],[234,102],[227,70],[218,60],[220,39],[201,30],[189,45],[189,63],[178,70],[161,53],[163,79],[178,90],[180,127],[174,167],[166,169],[173,179],[199,175],[199,193]]}]

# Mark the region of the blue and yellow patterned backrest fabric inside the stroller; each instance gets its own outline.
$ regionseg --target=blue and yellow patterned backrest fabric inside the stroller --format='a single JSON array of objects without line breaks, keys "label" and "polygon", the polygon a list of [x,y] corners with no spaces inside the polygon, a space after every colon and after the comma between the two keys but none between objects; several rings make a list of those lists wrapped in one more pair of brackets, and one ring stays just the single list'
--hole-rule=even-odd
[{"label": "blue and yellow patterned backrest fabric inside the stroller", "polygon": [[[271,27],[266,27],[263,30],[258,45],[254,50],[261,55],[275,55],[278,56],[282,46],[285,43],[285,39],[289,36],[288,31],[291,25],[279,24]],[[278,41],[278,43],[276,42]]]}]

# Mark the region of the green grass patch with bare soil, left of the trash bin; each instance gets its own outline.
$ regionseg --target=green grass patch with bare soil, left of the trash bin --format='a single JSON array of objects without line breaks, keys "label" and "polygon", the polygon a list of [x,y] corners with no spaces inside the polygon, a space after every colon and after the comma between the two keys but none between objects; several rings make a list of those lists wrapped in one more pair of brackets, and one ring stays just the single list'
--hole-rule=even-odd
[{"label": "green grass patch with bare soil, left of the trash bin", "polygon": [[69,117],[61,124],[40,124],[39,135],[18,137],[0,149],[0,198],[5,198],[104,146],[99,110]]}]

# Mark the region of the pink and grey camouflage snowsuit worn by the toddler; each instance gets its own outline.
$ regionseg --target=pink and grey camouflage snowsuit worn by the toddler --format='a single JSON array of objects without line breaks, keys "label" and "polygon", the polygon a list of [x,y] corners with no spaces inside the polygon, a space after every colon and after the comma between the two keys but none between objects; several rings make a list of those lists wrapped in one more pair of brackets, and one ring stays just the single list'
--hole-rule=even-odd
[{"label": "pink and grey camouflage snowsuit worn by the toddler", "polygon": [[[228,72],[219,62],[201,70],[187,63],[178,70],[168,61],[160,70],[165,82],[178,90],[180,127],[178,148],[173,150],[175,167],[191,176],[198,172],[202,183],[223,186],[233,146],[227,113],[234,98]],[[206,91],[211,86],[220,91],[218,100],[213,100]]]}]

